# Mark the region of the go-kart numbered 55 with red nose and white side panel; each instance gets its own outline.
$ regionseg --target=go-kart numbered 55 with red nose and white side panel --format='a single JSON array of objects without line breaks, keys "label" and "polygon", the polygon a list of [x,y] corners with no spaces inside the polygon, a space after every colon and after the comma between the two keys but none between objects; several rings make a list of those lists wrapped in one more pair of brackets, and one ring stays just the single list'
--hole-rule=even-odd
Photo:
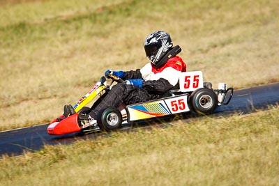
[{"label": "go-kart numbered 55 with red nose and white side panel", "polygon": [[[110,84],[107,84],[107,78],[111,79]],[[96,107],[111,91],[114,82],[124,83],[122,79],[111,74],[108,74],[107,78],[101,77],[100,81],[77,101],[73,107],[75,114],[55,118],[47,127],[48,134],[61,135],[95,130],[109,132],[119,129],[123,123],[190,111],[212,114],[216,107],[228,104],[234,93],[233,88],[226,88],[226,84],[223,83],[219,84],[218,89],[213,89],[211,83],[203,82],[201,71],[181,72],[179,87],[168,91],[163,98],[130,105],[121,104],[118,108],[109,107],[98,113],[96,123],[79,123],[78,114],[88,114],[91,108]],[[93,105],[86,107],[89,102],[93,102]]]}]

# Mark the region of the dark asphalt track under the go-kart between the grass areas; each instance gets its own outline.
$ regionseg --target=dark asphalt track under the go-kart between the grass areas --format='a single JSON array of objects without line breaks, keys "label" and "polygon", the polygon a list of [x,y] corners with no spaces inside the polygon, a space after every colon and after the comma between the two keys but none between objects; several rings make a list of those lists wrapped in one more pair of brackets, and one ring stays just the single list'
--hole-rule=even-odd
[{"label": "dark asphalt track under the go-kart between the grass areas", "polygon": [[[265,86],[255,86],[252,88],[243,88],[234,91],[231,102],[229,104],[218,107],[212,116],[228,116],[231,114],[249,114],[255,112],[259,109],[268,109],[270,105],[275,105],[279,103],[279,83],[268,84]],[[186,114],[183,116],[183,120],[186,122],[197,118],[195,114]],[[149,123],[137,123],[136,126],[150,128],[159,126],[162,127],[164,123],[173,122],[175,118],[163,120],[163,124],[160,121],[152,121]],[[166,122],[167,121],[167,122]],[[101,134],[91,133],[75,133],[66,134],[63,136],[50,136],[47,134],[47,125],[34,125],[32,127],[25,127],[16,130],[8,130],[0,132],[0,159],[2,155],[22,155],[24,151],[35,152],[43,148],[45,144],[55,145],[55,144],[70,144],[73,141],[82,139],[94,139]],[[126,124],[123,126],[123,131],[132,130],[135,128],[134,124]]]}]

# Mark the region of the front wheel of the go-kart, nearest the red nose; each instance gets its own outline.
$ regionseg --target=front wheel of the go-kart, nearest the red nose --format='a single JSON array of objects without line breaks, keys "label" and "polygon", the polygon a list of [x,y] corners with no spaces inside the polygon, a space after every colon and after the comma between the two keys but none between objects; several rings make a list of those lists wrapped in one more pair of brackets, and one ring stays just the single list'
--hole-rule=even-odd
[{"label": "front wheel of the go-kart, nearest the red nose", "polygon": [[97,123],[103,131],[117,130],[122,125],[122,114],[119,109],[109,107],[99,111],[97,116]]}]

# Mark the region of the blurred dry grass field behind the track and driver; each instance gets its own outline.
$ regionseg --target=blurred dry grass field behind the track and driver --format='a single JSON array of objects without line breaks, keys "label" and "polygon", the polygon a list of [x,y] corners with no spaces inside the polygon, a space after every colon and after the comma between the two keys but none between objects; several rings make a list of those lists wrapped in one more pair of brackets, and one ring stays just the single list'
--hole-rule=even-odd
[{"label": "blurred dry grass field behind the track and driver", "polygon": [[110,69],[171,33],[188,70],[242,88],[278,82],[278,1],[29,1],[0,6],[0,130],[47,123]]}]

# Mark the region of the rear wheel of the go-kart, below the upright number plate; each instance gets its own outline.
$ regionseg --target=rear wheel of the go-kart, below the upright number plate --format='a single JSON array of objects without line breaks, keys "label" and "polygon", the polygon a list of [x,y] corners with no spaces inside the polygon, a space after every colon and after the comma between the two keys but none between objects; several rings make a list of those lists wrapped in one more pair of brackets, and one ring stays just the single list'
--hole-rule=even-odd
[{"label": "rear wheel of the go-kart, below the upright number plate", "polygon": [[218,98],[213,90],[199,88],[191,93],[189,104],[190,109],[199,114],[212,114],[218,106]]}]

